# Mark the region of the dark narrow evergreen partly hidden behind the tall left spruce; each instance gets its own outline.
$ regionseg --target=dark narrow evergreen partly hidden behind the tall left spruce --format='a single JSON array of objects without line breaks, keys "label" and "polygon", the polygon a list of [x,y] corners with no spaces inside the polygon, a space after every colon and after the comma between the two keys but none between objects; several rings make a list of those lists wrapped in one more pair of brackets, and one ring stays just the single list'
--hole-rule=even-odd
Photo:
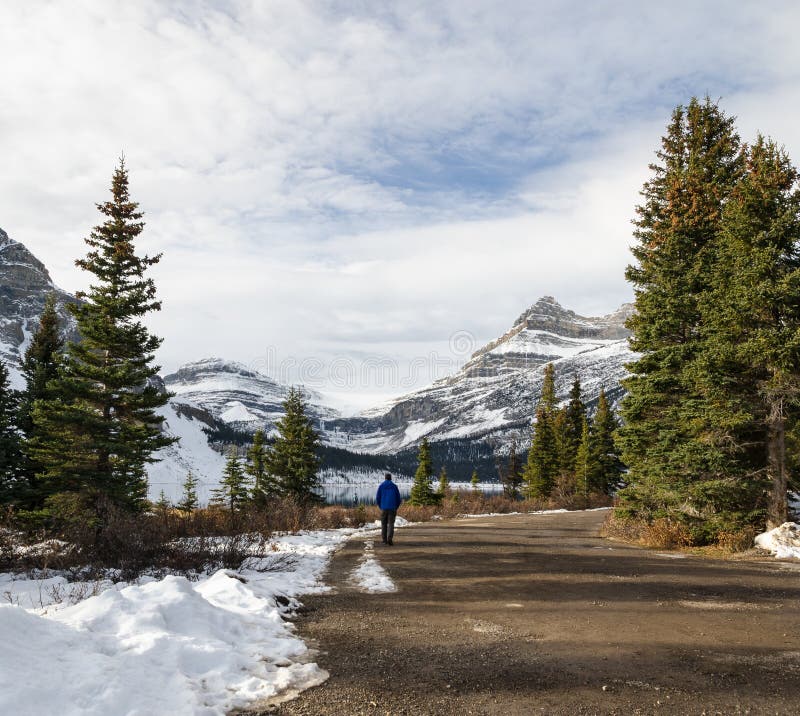
[{"label": "dark narrow evergreen partly hidden behind the tall left spruce", "polygon": [[46,497],[36,479],[36,475],[42,472],[44,466],[38,464],[28,450],[30,444],[35,443],[37,438],[33,406],[37,400],[47,400],[50,397],[48,386],[57,377],[63,352],[64,339],[56,312],[56,296],[51,293],[47,296],[44,310],[39,318],[39,326],[22,360],[25,390],[20,396],[19,407],[19,428],[23,435],[22,484],[19,498],[21,503],[29,508],[41,507]]}]

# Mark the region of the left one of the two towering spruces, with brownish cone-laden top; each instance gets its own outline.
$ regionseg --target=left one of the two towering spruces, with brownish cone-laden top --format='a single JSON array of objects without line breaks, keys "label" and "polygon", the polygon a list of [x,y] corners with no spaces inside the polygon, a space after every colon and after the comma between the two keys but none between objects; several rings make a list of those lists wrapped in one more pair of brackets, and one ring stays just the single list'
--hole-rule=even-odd
[{"label": "left one of the two towering spruces, with brownish cone-laden top", "polygon": [[657,157],[626,271],[636,307],[630,344],[641,357],[623,383],[620,430],[630,468],[623,508],[645,519],[688,517],[690,486],[727,467],[707,439],[708,404],[693,367],[722,209],[743,168],[733,119],[709,99],[675,110]]}]

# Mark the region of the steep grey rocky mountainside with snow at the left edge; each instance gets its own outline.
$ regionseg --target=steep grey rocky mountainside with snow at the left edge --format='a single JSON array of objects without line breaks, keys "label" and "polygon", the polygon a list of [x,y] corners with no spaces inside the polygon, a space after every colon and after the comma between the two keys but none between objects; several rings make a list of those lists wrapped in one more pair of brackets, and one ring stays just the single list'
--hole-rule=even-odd
[{"label": "steep grey rocky mountainside with snow at the left edge", "polygon": [[75,320],[65,304],[75,298],[53,284],[44,264],[0,229],[0,358],[15,388],[22,387],[19,364],[39,325],[49,293],[55,292],[66,333],[75,337]]}]

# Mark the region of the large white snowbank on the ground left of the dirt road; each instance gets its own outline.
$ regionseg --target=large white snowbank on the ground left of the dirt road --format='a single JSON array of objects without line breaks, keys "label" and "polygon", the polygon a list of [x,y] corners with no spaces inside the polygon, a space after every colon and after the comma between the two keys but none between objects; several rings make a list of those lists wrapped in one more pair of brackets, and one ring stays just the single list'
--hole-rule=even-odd
[{"label": "large white snowbank on the ground left of the dirt road", "polygon": [[0,574],[0,713],[222,716],[321,683],[327,673],[283,617],[327,589],[327,561],[356,532],[283,536],[197,582]]}]

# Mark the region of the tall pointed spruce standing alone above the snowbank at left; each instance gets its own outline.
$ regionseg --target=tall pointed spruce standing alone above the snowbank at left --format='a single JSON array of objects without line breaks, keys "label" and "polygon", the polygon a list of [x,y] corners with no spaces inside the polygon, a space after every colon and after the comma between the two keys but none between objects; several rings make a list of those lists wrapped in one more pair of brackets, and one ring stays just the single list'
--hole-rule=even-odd
[{"label": "tall pointed spruce standing alone above the snowbank at left", "polygon": [[111,194],[97,205],[105,221],[85,240],[86,258],[76,261],[95,277],[88,293],[78,294],[83,302],[68,306],[83,340],[68,344],[58,376],[48,384],[52,394],[34,404],[38,432],[29,448],[47,491],[80,493],[101,526],[109,503],[144,507],[145,466],[173,442],[161,434],[155,412],[169,396],[150,383],[161,339],[141,320],[161,307],[153,280],[144,276],[160,256],[135,253],[144,224],[130,200],[122,160]]}]

